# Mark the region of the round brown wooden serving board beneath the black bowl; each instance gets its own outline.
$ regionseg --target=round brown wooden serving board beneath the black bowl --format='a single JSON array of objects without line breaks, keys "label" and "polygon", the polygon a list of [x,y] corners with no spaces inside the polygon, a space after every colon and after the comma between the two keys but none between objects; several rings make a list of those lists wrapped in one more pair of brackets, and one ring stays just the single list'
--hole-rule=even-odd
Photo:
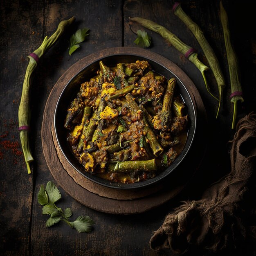
[{"label": "round brown wooden serving board beneath the black bowl", "polygon": [[[77,172],[62,154],[54,130],[54,110],[58,98],[70,79],[84,66],[112,54],[135,53],[153,58],[171,70],[189,91],[196,107],[197,128],[194,142],[186,158],[164,181],[141,189],[115,189],[96,184]],[[117,47],[91,54],[70,67],[57,81],[47,100],[42,123],[42,145],[45,160],[54,179],[75,200],[97,211],[114,214],[141,213],[153,209],[175,197],[199,167],[205,150],[204,129],[206,112],[202,99],[189,77],[166,58],[135,47]],[[195,150],[196,149],[196,150]]]}]

